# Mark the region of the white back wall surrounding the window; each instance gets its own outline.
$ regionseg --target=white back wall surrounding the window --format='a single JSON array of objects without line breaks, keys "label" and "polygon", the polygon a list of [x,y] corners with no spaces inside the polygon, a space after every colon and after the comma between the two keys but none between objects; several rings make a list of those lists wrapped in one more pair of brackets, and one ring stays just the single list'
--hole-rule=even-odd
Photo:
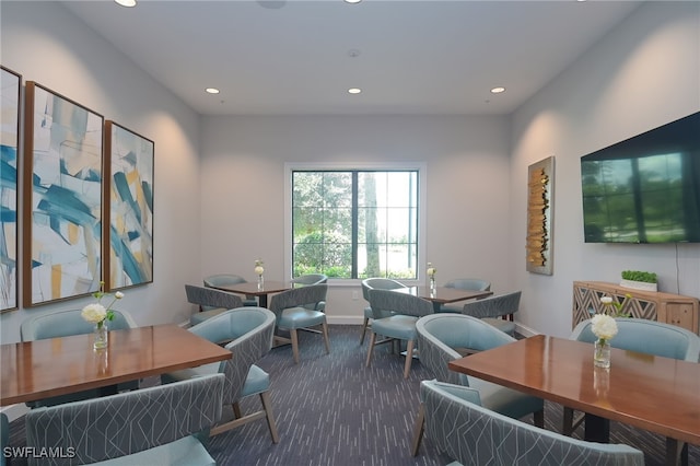
[{"label": "white back wall surrounding the window", "polygon": [[[424,162],[427,255],[439,282],[482,277],[509,290],[505,117],[209,117],[202,123],[202,272],[283,280],[284,163]],[[421,259],[422,260],[422,259]],[[354,287],[331,287],[330,323],[360,323]],[[361,295],[361,294],[360,294]]]}]

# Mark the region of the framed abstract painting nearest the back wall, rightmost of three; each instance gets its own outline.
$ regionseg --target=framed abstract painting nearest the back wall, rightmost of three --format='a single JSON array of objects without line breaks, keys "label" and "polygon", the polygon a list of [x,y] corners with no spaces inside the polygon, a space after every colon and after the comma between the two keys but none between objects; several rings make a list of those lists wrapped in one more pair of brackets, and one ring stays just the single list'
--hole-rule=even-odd
[{"label": "framed abstract painting nearest the back wall, rightmost of three", "polygon": [[108,290],[153,281],[154,143],[107,120],[105,123],[105,222],[109,238],[103,254]]}]

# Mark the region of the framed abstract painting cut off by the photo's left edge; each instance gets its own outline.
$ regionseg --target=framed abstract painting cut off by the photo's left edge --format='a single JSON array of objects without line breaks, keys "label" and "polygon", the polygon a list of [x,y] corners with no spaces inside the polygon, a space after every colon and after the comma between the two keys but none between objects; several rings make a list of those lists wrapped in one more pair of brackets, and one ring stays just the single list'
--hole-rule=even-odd
[{"label": "framed abstract painting cut off by the photo's left edge", "polygon": [[18,307],[18,150],[22,77],[0,67],[0,312]]}]

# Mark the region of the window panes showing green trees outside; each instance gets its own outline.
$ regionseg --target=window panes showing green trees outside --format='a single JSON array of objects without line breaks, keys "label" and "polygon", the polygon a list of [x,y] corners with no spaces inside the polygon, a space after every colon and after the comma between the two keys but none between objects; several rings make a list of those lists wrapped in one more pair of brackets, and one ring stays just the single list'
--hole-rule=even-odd
[{"label": "window panes showing green trees outside", "polygon": [[293,277],[417,277],[418,171],[293,171]]}]

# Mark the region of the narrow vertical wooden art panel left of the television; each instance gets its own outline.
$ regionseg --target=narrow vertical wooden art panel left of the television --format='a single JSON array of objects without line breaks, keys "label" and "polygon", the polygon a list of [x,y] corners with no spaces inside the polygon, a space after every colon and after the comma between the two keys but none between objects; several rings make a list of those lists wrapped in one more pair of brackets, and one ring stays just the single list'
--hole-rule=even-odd
[{"label": "narrow vertical wooden art panel left of the television", "polygon": [[553,273],[555,158],[532,164],[527,170],[527,271]]}]

